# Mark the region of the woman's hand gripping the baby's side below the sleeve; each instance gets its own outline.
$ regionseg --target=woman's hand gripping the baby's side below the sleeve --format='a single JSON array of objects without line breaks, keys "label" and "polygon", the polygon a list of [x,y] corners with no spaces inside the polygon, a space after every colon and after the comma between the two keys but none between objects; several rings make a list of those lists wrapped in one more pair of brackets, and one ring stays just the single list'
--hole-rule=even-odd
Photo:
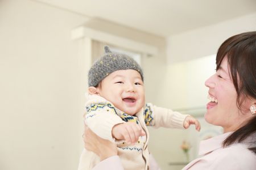
[{"label": "woman's hand gripping the baby's side below the sleeve", "polygon": [[84,126],[83,139],[86,150],[94,152],[101,160],[117,155],[117,145],[98,137],[87,125]]}]

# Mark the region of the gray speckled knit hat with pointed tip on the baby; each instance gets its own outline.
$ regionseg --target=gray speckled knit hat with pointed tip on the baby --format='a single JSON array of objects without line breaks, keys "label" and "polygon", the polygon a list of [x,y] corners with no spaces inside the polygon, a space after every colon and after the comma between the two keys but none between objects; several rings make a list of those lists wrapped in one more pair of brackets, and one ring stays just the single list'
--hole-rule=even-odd
[{"label": "gray speckled knit hat with pointed tip on the baby", "polygon": [[131,57],[126,54],[112,53],[108,46],[105,46],[105,55],[94,62],[89,70],[88,85],[97,87],[110,73],[117,70],[136,70],[141,74],[143,81],[143,72],[141,66]]}]

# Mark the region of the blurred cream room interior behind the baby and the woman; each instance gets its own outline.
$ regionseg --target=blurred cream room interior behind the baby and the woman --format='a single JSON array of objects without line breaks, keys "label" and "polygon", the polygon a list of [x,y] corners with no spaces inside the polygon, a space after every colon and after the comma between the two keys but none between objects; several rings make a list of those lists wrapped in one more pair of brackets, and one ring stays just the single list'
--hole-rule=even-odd
[{"label": "blurred cream room interior behind the baby and the woman", "polygon": [[0,169],[77,169],[87,71],[104,45],[141,63],[147,102],[199,118],[200,133],[149,128],[160,167],[181,169],[221,133],[204,121],[218,47],[255,30],[255,0],[0,0]]}]

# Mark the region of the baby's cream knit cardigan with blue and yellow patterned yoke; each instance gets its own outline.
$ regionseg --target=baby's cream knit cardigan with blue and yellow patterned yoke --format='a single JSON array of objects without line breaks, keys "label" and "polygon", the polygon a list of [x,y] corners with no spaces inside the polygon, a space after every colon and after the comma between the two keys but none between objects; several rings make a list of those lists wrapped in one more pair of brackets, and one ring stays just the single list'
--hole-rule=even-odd
[{"label": "baby's cream knit cardigan with blue and yellow patterned yoke", "polygon": [[[85,104],[86,124],[99,137],[117,143],[118,156],[121,158],[123,167],[127,170],[148,169],[150,165],[147,147],[149,133],[146,126],[184,129],[183,121],[188,116],[148,103],[135,116],[128,115],[129,118],[127,118],[127,114],[115,108],[112,103],[101,96],[89,95],[88,99]],[[112,137],[113,126],[127,121],[138,122],[146,132],[146,136],[139,137],[138,142],[134,145],[127,145],[124,141],[117,141]],[[100,158],[96,154],[84,149],[78,169],[89,170],[99,162]]]}]

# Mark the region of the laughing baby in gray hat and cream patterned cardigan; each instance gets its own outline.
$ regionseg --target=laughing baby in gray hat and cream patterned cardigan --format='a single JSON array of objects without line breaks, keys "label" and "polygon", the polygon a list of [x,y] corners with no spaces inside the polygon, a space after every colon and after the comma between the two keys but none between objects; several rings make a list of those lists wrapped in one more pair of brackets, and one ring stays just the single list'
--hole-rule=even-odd
[{"label": "laughing baby in gray hat and cream patterned cardigan", "polygon": [[[191,124],[200,130],[199,121],[189,115],[145,105],[143,72],[133,58],[112,53],[105,55],[89,70],[89,96],[85,123],[99,137],[117,143],[118,155],[125,169],[148,169],[148,130],[155,128],[187,129]],[[100,159],[84,150],[79,170],[92,169]]]}]

